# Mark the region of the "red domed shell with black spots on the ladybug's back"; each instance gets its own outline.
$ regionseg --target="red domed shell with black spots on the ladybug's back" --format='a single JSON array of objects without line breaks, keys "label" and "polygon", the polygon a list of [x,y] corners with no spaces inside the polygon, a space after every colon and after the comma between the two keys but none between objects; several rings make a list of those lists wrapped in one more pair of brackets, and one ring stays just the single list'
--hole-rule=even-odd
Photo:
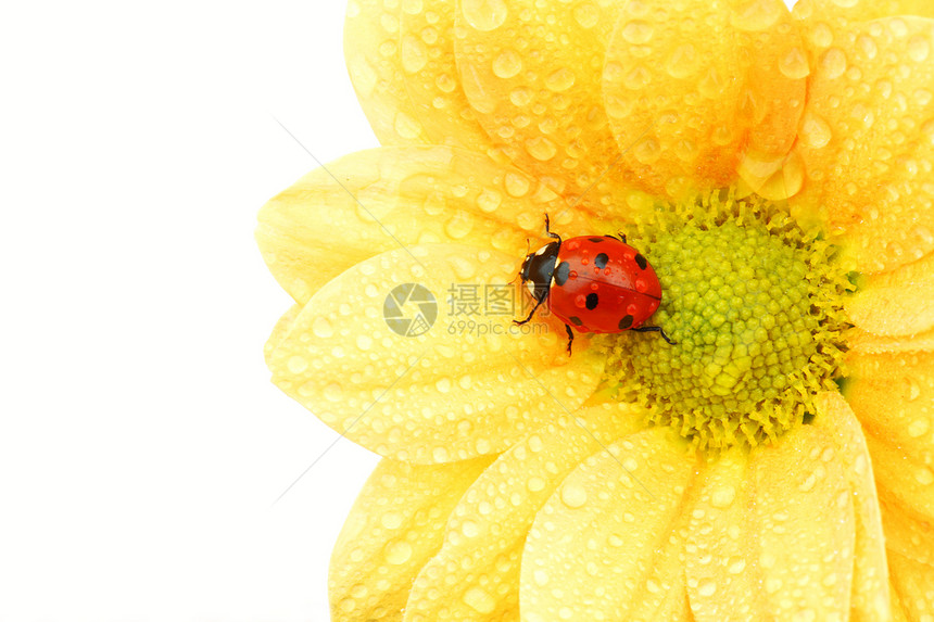
[{"label": "red domed shell with black spots on the ladybug's back", "polygon": [[621,332],[655,313],[661,284],[629,244],[582,236],[561,242],[548,301],[552,313],[580,332]]}]

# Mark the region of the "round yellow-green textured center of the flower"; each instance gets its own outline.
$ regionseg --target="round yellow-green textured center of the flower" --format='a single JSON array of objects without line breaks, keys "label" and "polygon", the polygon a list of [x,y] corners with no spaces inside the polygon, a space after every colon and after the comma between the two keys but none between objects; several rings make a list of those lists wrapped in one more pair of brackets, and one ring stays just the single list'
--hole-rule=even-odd
[{"label": "round yellow-green textured center of the flower", "polygon": [[[660,214],[660,215],[659,215]],[[661,282],[647,323],[609,346],[622,399],[702,449],[774,440],[835,389],[846,327],[834,249],[777,205],[711,194],[656,212],[631,243]]]}]

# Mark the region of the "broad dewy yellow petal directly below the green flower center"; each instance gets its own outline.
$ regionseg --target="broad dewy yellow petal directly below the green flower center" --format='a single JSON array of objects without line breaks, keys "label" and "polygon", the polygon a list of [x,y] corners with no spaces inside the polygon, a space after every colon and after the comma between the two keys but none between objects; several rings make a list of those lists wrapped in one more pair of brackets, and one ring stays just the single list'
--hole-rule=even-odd
[{"label": "broad dewy yellow petal directly below the green flower center", "polygon": [[802,426],[702,472],[687,536],[697,620],[845,620],[854,510],[829,434]]}]

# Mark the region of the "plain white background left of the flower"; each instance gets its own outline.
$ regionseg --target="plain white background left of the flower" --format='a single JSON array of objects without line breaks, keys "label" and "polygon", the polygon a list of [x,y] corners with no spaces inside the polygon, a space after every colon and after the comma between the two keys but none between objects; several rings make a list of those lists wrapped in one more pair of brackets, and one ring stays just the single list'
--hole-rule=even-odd
[{"label": "plain white background left of the flower", "polygon": [[[15,7],[15,8],[14,8]],[[270,382],[260,206],[374,147],[344,2],[0,21],[0,620],[318,621],[376,458]],[[351,234],[352,232],[348,232]]]}]

